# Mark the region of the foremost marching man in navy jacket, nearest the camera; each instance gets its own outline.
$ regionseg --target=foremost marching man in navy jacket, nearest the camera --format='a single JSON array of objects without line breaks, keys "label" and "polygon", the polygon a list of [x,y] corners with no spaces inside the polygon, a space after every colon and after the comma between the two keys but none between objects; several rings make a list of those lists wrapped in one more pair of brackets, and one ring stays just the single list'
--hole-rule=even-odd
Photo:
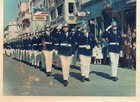
[{"label": "foremost marching man in navy jacket, nearest the camera", "polygon": [[68,24],[66,23],[63,25],[63,31],[60,35],[60,49],[58,51],[62,65],[64,86],[68,85],[69,70],[74,48],[73,44],[73,37],[70,34]]}]

